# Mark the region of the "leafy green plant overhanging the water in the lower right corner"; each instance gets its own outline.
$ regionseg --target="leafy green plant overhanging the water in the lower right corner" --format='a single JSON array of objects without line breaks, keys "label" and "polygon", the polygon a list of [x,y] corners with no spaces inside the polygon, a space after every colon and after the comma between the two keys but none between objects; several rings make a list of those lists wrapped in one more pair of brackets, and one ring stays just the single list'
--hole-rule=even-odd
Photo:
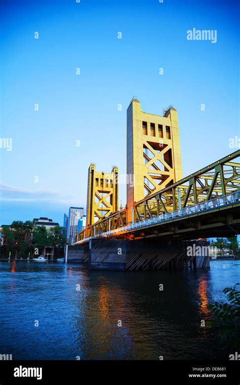
[{"label": "leafy green plant overhanging the water in the lower right corner", "polygon": [[220,327],[220,339],[222,343],[229,348],[237,348],[240,340],[240,291],[237,285],[226,287],[223,293],[227,294],[228,302],[219,304],[215,302],[210,304],[210,309],[214,315],[214,320],[208,323],[208,326],[217,324]]}]

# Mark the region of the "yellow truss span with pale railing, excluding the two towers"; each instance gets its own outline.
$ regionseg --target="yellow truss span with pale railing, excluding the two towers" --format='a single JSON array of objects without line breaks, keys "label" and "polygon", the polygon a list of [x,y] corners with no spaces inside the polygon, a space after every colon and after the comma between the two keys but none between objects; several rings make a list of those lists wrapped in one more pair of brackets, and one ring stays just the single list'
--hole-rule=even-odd
[{"label": "yellow truss span with pale railing, excluding the two towers", "polygon": [[237,150],[135,203],[135,223],[127,223],[126,209],[109,215],[78,233],[75,244],[86,243],[91,238],[111,236],[131,239],[140,228],[239,207],[239,158],[240,150]]}]

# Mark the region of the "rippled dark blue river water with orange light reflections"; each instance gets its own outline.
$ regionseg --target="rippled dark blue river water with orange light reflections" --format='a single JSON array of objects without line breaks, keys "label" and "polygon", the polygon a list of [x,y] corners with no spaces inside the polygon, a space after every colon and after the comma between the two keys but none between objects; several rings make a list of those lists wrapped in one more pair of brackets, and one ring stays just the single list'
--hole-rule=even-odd
[{"label": "rippled dark blue river water with orange light reflections", "polygon": [[239,260],[188,272],[86,267],[0,262],[0,354],[13,360],[228,359],[216,328],[201,322],[211,317],[210,302],[226,301],[222,290],[238,281]]}]

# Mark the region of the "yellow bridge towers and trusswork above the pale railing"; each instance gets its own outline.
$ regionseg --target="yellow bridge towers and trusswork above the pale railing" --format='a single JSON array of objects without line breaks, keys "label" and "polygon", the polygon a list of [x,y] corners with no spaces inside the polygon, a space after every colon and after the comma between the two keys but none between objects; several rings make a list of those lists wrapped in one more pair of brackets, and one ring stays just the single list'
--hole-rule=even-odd
[{"label": "yellow bridge towers and trusswork above the pale railing", "polygon": [[[102,234],[196,203],[230,194],[240,188],[240,150],[182,176],[178,115],[173,106],[164,115],[145,113],[133,99],[127,110],[127,205],[118,211],[118,169],[88,173],[87,225],[75,241]],[[235,162],[233,162],[235,160]],[[97,223],[94,224],[97,217]]]}]

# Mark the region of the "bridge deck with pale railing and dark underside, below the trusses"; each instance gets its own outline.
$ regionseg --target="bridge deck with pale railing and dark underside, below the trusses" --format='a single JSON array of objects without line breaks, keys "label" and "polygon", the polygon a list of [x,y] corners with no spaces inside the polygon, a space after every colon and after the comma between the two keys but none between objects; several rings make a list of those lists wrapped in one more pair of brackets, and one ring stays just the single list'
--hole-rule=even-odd
[{"label": "bridge deck with pale railing and dark underside, below the trusses", "polygon": [[[224,214],[221,216],[221,213]],[[198,203],[181,210],[155,216],[153,218],[119,227],[102,234],[98,234],[74,245],[85,244],[90,239],[106,237],[122,237],[134,235],[134,239],[147,237],[183,237],[192,239],[195,235],[208,238],[211,233],[220,236],[220,232],[229,235],[238,234],[240,213],[240,191]],[[235,217],[236,216],[236,217]],[[185,233],[185,235],[184,235]]]}]

